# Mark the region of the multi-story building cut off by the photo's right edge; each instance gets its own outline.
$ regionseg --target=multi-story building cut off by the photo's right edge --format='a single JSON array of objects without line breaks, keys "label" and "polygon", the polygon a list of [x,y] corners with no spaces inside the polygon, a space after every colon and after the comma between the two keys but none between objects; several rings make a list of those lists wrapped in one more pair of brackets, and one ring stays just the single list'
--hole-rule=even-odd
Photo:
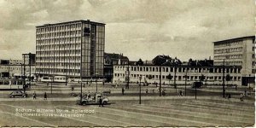
[{"label": "multi-story building cut off by the photo's right edge", "polygon": [[254,83],[255,36],[213,42],[214,65],[241,66],[242,83]]}]

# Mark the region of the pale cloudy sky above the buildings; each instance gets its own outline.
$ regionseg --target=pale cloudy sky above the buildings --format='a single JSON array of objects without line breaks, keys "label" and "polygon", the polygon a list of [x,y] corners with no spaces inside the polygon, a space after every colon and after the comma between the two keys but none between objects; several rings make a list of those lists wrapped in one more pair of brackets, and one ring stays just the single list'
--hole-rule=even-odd
[{"label": "pale cloudy sky above the buildings", "polygon": [[106,23],[105,52],[131,61],[213,58],[214,41],[255,35],[253,0],[0,0],[0,58],[36,52],[35,26]]}]

